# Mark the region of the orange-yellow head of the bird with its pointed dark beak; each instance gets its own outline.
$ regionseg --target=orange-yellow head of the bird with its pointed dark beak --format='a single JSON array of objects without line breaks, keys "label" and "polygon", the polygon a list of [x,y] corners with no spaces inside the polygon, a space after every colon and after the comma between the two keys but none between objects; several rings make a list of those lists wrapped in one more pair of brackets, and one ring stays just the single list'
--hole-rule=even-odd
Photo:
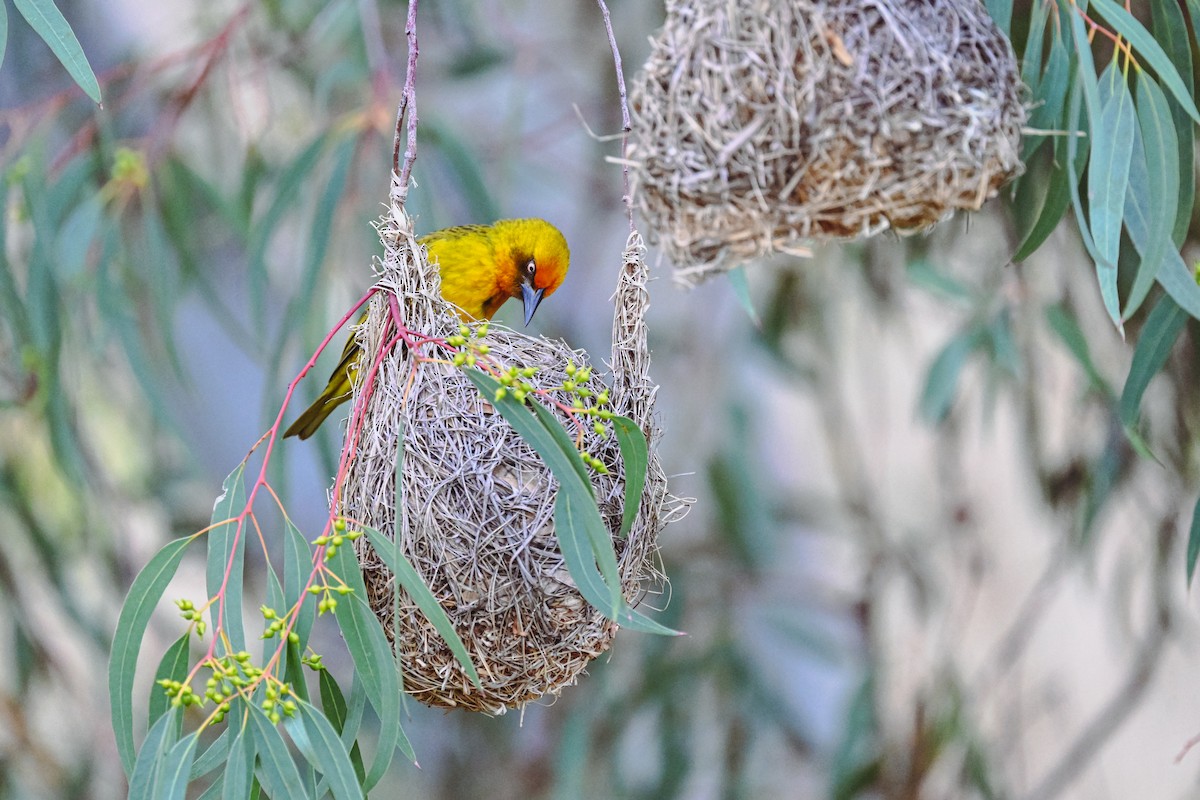
[{"label": "orange-yellow head of the bird with its pointed dark beak", "polygon": [[566,239],[545,219],[497,222],[493,236],[502,258],[508,255],[505,288],[510,297],[521,299],[528,325],[541,301],[554,294],[566,277],[571,261]]}]

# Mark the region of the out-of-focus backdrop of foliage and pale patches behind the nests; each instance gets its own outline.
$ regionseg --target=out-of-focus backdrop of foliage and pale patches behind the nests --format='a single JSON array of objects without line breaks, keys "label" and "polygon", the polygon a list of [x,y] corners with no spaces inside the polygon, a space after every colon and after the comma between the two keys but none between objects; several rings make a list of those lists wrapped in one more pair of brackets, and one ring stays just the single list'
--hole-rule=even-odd
[{"label": "out-of-focus backdrop of foliage and pale patches behind the nests", "polygon": [[[406,6],[59,6],[103,110],[14,14],[0,70],[0,795],[104,799],[126,792],[106,666],[130,582],[208,524],[372,283]],[[611,10],[629,78],[662,10]],[[556,223],[572,269],[534,327],[606,354],[628,222],[595,4],[427,0],[418,34],[418,230]],[[1117,397],[1142,319],[1128,341],[1108,323],[1072,224],[1022,264],[1016,243],[1001,199],[750,264],[754,315],[655,263],[660,457],[695,504],[648,602],[688,636],[623,632],[557,702],[499,718],[408,703],[420,768],[371,796],[1195,796],[1200,752],[1176,759],[1200,734],[1195,321],[1140,457]],[[310,536],[334,427],[272,476]],[[203,572],[185,560],[167,596],[202,596]],[[162,606],[137,709],[182,630]]]}]

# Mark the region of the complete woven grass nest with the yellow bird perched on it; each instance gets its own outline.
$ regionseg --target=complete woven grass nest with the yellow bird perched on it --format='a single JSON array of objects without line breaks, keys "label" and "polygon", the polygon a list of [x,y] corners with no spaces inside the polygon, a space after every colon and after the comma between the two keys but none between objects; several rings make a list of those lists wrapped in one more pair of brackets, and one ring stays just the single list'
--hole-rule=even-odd
[{"label": "complete woven grass nest with the yellow bird perched on it", "polygon": [[[408,217],[394,207],[379,228],[386,248],[378,281],[383,291],[356,333],[366,353],[379,350],[388,293],[398,299],[410,330],[428,336],[457,332],[460,319],[438,295],[437,270],[413,240]],[[640,237],[631,237],[617,291],[611,386],[612,410],[637,421],[650,445],[641,512],[628,539],[613,536],[623,593],[631,604],[641,600],[646,582],[653,585],[662,578],[656,569],[658,534],[686,510],[667,493],[653,455],[658,432],[650,419],[655,387],[646,373],[643,249]],[[539,367],[530,379],[539,387],[560,385],[569,362],[589,363],[586,353],[563,342],[494,323],[485,341],[490,356],[505,366]],[[592,383],[596,391],[604,389],[599,379]],[[360,389],[355,387],[355,397]],[[565,421],[565,415],[556,414]],[[593,474],[601,516],[612,531],[619,531],[624,473],[616,437],[601,438],[590,425],[584,428],[583,449],[611,470]],[[404,451],[396,475],[401,439]],[[403,492],[400,521],[396,480]],[[468,680],[403,589],[398,615],[394,614],[392,576],[364,537],[356,552],[371,608],[398,643],[404,690],[420,702],[503,714],[557,694],[608,648],[617,625],[583,600],[558,551],[556,491],[557,481],[541,458],[461,368],[416,362],[406,348],[385,356],[343,487],[342,512],[394,541],[400,536],[401,552],[449,614],[482,681],[479,690]]]}]

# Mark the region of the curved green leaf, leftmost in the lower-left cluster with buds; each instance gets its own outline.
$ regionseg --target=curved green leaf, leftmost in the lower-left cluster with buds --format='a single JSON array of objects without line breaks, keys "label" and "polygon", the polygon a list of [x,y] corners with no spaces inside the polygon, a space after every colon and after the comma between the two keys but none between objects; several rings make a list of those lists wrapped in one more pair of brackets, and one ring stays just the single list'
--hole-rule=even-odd
[{"label": "curved green leaf, leftmost in the lower-left cluster with buds", "polygon": [[[192,536],[168,542],[155,553],[150,563],[133,578],[113,633],[113,651],[108,661],[108,702],[112,708],[113,733],[116,735],[116,752],[121,757],[125,774],[133,772],[133,673],[138,666],[142,637],[150,625],[155,606],[175,576],[184,551],[192,543]],[[160,722],[169,715],[160,717]]]}]

